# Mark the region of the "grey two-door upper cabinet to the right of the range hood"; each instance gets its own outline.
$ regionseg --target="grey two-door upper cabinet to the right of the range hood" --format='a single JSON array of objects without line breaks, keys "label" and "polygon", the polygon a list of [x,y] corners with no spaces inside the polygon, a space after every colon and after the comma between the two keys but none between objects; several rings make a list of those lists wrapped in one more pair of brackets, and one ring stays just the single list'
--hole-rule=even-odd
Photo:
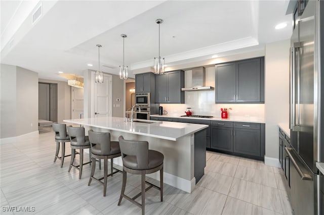
[{"label": "grey two-door upper cabinet to the right of the range hood", "polygon": [[215,103],[264,103],[264,57],[215,66]]}]

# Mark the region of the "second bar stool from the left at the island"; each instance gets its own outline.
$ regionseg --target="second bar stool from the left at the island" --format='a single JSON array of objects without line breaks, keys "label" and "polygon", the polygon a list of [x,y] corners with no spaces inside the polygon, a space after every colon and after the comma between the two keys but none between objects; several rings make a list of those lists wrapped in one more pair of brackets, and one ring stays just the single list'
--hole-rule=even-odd
[{"label": "second bar stool from the left at the island", "polygon": [[[70,144],[71,144],[71,162],[70,167],[67,172],[70,172],[71,168],[75,168],[79,170],[79,179],[81,179],[82,175],[82,167],[83,165],[90,164],[91,166],[91,146],[89,142],[89,136],[86,136],[85,134],[85,128],[84,127],[67,127],[67,132],[70,135]],[[90,161],[87,163],[83,163],[83,151],[84,149],[89,148],[89,159]],[[73,165],[74,159],[75,159],[75,149],[79,149],[79,155],[80,155],[80,164],[75,166]]]}]

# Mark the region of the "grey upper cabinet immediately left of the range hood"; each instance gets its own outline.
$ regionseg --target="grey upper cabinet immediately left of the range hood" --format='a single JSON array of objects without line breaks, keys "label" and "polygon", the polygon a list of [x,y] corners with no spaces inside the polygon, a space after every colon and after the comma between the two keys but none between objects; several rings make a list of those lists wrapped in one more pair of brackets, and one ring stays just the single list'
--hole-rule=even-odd
[{"label": "grey upper cabinet immediately left of the range hood", "polygon": [[155,76],[155,103],[184,103],[184,71]]}]

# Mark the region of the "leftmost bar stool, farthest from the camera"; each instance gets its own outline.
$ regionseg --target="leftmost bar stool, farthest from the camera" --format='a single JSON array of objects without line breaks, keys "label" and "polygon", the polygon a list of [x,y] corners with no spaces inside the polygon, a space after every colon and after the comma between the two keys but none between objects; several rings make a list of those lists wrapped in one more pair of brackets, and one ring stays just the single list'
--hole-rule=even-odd
[{"label": "leftmost bar stool, farthest from the camera", "polygon": [[[54,163],[56,162],[56,159],[61,160],[61,168],[63,167],[64,157],[71,156],[65,155],[65,143],[70,142],[70,137],[66,133],[66,125],[65,124],[59,124],[59,123],[53,123],[52,124],[53,131],[55,132],[55,141],[56,141],[56,152],[54,157]],[[60,151],[60,143],[62,143],[62,150],[61,150],[61,156],[59,157],[59,151]]]}]

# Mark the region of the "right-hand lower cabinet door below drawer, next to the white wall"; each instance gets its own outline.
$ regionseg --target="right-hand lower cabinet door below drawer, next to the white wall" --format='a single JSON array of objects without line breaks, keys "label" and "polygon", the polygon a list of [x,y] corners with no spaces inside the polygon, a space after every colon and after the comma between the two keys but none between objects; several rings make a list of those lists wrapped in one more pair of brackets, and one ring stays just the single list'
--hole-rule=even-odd
[{"label": "right-hand lower cabinet door below drawer, next to the white wall", "polygon": [[260,130],[235,128],[233,136],[234,152],[261,156]]}]

